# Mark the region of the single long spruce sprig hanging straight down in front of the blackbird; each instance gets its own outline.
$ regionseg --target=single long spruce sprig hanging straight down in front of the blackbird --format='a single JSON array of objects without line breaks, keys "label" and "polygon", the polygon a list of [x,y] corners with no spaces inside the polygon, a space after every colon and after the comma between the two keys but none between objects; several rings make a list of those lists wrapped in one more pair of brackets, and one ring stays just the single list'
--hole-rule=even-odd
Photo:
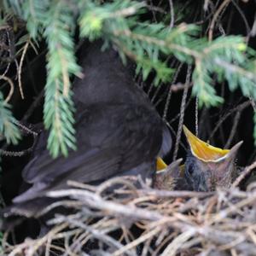
[{"label": "single long spruce sprig hanging straight down in front of the blackbird", "polygon": [[45,86],[44,125],[49,129],[48,148],[57,157],[75,149],[73,101],[70,76],[79,74],[74,57],[73,12],[63,2],[49,6],[44,21],[44,38],[48,44],[47,83]]}]

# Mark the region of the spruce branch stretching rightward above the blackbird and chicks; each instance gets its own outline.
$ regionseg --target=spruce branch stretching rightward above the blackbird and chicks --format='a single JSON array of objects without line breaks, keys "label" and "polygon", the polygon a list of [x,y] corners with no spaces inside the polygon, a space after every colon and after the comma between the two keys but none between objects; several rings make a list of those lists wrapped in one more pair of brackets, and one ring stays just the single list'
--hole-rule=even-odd
[{"label": "spruce branch stretching rightward above the blackbird and chicks", "polygon": [[[137,62],[137,72],[143,72],[143,79],[147,79],[148,74],[154,70],[156,73],[154,84],[170,80],[172,69],[165,61],[160,60],[160,55],[174,55],[179,61],[195,64],[193,95],[199,97],[200,106],[217,106],[224,102],[213,88],[212,74],[214,73],[218,75],[220,81],[228,80],[230,90],[240,86],[245,96],[253,92],[251,89],[247,90],[247,86],[241,81],[240,74],[238,74],[240,79],[237,79],[237,76],[236,78],[230,76],[226,67],[219,66],[216,61],[218,58],[223,63],[226,62],[236,68],[245,65],[247,55],[244,54],[246,44],[243,38],[228,36],[208,42],[205,38],[197,38],[200,29],[194,25],[181,24],[170,30],[169,27],[160,23],[140,22],[137,14],[143,12],[144,7],[136,6],[136,3],[131,1],[115,1],[103,5],[91,1],[89,3],[85,8],[86,11],[81,13],[81,35],[91,40],[98,37],[108,38],[119,47],[119,54],[124,60],[125,55],[128,55]],[[124,4],[126,9],[136,6],[135,15],[113,15],[124,8]],[[93,21],[90,21],[92,16]],[[85,23],[91,26],[85,26]],[[95,24],[97,24],[96,30],[94,30]],[[247,79],[250,88],[255,77],[256,75],[253,75]]]}]

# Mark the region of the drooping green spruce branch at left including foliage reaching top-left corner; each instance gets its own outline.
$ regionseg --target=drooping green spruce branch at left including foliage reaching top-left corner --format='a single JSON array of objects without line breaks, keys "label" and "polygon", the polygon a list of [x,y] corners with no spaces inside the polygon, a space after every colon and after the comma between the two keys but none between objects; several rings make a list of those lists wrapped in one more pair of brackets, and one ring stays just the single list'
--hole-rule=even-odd
[{"label": "drooping green spruce branch at left including foliage reaching top-left corner", "polygon": [[48,0],[6,0],[3,6],[9,14],[26,21],[30,38],[44,37],[48,44],[44,125],[49,129],[50,153],[54,157],[67,155],[68,148],[75,149],[70,76],[80,71],[73,49],[74,9],[65,1]]}]

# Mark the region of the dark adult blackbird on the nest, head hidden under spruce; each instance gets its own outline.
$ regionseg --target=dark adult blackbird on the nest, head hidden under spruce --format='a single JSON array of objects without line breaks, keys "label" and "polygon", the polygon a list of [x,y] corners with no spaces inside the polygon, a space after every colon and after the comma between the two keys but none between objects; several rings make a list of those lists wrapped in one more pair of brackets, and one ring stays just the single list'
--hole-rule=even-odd
[{"label": "dark adult blackbird on the nest, head hidden under spruce", "polygon": [[22,172],[32,187],[13,200],[5,216],[37,217],[52,200],[49,190],[67,188],[67,180],[101,183],[119,175],[154,177],[157,156],[166,154],[172,138],[130,68],[114,49],[102,43],[82,50],[84,78],[73,84],[77,150],[52,159],[46,131],[38,138],[32,160]]}]

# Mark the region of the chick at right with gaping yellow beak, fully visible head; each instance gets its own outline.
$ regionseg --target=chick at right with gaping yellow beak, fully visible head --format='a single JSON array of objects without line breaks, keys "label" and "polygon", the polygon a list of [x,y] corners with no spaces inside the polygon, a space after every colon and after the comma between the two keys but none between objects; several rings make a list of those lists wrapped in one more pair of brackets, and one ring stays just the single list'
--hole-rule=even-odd
[{"label": "chick at right with gaping yellow beak, fully visible head", "polygon": [[242,141],[231,149],[216,148],[195,137],[184,125],[183,131],[190,149],[184,172],[189,189],[213,191],[217,187],[229,188],[238,175],[235,159]]}]

